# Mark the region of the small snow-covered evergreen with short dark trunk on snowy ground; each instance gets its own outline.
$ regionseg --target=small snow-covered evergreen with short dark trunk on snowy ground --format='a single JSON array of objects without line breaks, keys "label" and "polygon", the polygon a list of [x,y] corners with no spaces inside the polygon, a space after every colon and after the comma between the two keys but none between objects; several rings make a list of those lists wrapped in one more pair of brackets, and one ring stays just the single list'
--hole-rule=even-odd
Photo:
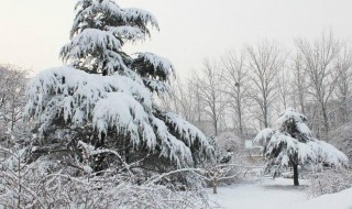
[{"label": "small snow-covered evergreen with short dark trunk on snowy ground", "polygon": [[295,185],[299,185],[298,165],[326,164],[339,167],[349,162],[333,145],[315,139],[306,123],[304,114],[288,108],[280,113],[277,129],[264,129],[255,138],[255,142],[265,145],[266,172],[276,174],[282,167],[292,166]]}]

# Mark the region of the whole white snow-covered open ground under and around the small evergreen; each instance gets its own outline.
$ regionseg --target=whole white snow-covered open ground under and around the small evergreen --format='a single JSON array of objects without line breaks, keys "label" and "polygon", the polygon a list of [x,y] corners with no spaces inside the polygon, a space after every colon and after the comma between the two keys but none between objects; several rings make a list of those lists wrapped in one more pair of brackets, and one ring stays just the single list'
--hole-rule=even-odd
[{"label": "whole white snow-covered open ground under and around the small evergreen", "polygon": [[293,186],[293,179],[265,179],[260,183],[219,187],[211,201],[229,209],[352,209],[352,188],[339,194],[308,199],[307,183]]}]

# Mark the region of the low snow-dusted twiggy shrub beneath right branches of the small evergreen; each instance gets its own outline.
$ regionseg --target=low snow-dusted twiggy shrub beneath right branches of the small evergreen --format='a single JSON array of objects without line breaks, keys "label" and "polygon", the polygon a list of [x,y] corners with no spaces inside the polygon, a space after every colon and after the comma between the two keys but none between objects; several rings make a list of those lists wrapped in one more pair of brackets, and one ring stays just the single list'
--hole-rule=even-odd
[{"label": "low snow-dusted twiggy shrub beneath right branches of the small evergreen", "polygon": [[309,176],[309,197],[333,194],[352,187],[352,172],[348,169],[327,169]]}]

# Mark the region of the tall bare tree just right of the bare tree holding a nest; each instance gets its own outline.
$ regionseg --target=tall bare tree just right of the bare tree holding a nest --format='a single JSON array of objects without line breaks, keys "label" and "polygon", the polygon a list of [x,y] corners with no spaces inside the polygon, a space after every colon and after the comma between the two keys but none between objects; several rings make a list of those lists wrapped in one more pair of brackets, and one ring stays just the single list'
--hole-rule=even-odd
[{"label": "tall bare tree just right of the bare tree holding a nest", "polygon": [[270,125],[270,108],[278,96],[277,76],[285,65],[286,56],[274,42],[264,41],[256,47],[248,46],[248,69],[253,84],[251,97],[260,108],[260,121]]}]

